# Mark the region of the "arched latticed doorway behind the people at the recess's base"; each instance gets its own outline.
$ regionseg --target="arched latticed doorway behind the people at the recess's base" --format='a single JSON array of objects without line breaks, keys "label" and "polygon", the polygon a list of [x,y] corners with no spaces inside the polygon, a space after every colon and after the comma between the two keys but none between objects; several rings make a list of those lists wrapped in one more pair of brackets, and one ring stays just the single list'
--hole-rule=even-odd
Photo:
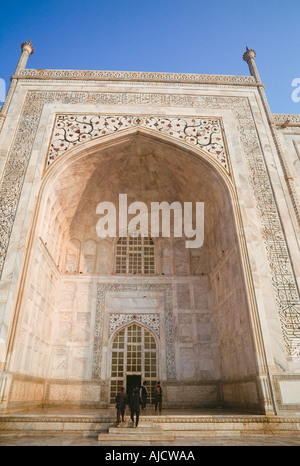
[{"label": "arched latticed doorway behind the people at the recess's base", "polygon": [[111,343],[110,403],[114,403],[120,387],[131,397],[133,389],[146,383],[149,399],[158,380],[158,347],[154,334],[132,323],[115,335]]}]

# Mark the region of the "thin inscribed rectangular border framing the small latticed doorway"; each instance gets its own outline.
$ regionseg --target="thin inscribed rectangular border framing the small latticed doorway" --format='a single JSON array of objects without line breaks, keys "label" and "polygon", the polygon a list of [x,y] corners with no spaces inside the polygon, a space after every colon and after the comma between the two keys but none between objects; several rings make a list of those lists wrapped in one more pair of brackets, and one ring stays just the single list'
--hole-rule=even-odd
[{"label": "thin inscribed rectangular border framing the small latticed doorway", "polygon": [[[105,293],[109,291],[162,291],[164,292],[164,318],[166,327],[166,354],[168,378],[176,378],[172,290],[170,285],[130,285],[99,283],[97,289],[97,306],[93,351],[93,378],[100,377],[101,358],[103,349],[103,318],[105,312]],[[152,314],[151,314],[152,315]],[[137,316],[136,316],[137,317]]]}]

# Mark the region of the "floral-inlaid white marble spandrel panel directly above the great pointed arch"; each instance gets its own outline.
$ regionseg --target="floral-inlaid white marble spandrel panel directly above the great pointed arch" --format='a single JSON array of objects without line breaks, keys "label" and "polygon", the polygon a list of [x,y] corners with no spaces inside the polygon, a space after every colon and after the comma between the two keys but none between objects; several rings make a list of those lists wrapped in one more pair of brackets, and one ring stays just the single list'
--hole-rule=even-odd
[{"label": "floral-inlaid white marble spandrel panel directly above the great pointed arch", "polygon": [[47,155],[46,169],[67,150],[106,134],[130,127],[144,127],[168,134],[206,151],[228,174],[229,163],[219,118],[164,118],[130,115],[57,115]]}]

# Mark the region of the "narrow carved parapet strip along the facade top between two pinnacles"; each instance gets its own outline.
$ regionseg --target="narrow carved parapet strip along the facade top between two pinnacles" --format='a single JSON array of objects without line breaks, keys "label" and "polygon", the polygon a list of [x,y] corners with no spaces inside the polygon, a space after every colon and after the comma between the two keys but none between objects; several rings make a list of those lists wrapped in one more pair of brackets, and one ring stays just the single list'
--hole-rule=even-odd
[{"label": "narrow carved parapet strip along the facade top between two pinnacles", "polygon": [[84,81],[138,81],[189,84],[227,84],[237,86],[263,86],[253,76],[210,75],[188,73],[155,73],[138,71],[97,71],[97,70],[43,70],[22,69],[13,79],[39,80],[84,80]]}]

